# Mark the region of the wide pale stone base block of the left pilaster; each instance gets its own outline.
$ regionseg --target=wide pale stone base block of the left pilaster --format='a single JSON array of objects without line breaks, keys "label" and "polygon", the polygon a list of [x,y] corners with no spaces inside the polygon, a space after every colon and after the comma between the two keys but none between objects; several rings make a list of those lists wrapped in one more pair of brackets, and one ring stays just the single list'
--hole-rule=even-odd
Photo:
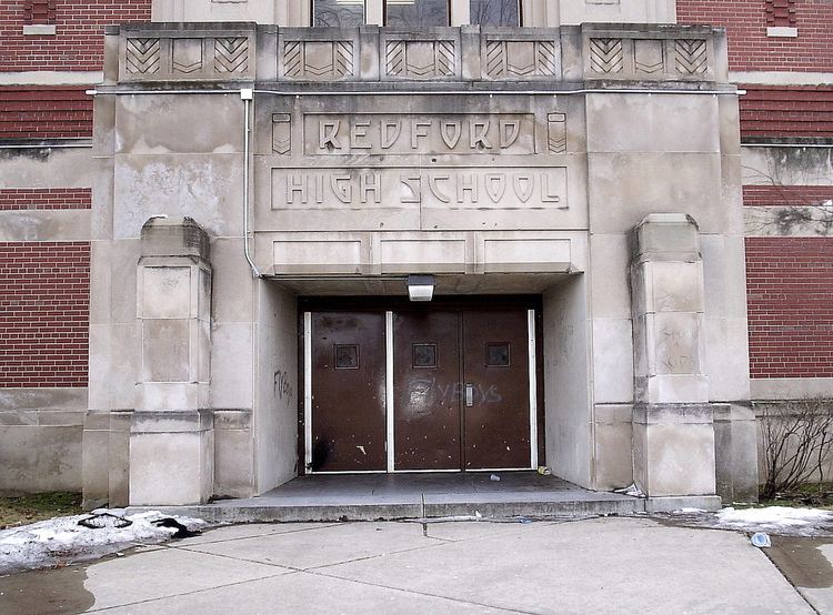
[{"label": "wide pale stone base block of the left pilaster", "polygon": [[210,411],[137,412],[130,431],[130,504],[189,505],[213,493]]}]

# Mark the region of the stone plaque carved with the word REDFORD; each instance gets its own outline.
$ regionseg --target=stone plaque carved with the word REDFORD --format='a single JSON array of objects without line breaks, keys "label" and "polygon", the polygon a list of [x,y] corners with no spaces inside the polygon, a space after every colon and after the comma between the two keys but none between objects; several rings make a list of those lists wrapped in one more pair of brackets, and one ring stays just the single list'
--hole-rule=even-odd
[{"label": "stone plaque carved with the word REDFORD", "polygon": [[531,154],[532,113],[307,113],[304,153]]}]

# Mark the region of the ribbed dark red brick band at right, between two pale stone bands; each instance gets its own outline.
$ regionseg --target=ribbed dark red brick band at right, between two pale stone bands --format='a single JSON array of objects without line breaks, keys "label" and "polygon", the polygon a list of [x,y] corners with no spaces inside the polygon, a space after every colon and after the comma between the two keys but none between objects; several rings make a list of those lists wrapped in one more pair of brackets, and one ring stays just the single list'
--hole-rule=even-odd
[{"label": "ribbed dark red brick band at right, between two pale stone bands", "polygon": [[[831,28],[833,36],[833,24]],[[829,70],[833,70],[833,61]],[[833,87],[743,88],[746,93],[740,98],[742,140],[767,137],[833,139]]]}]

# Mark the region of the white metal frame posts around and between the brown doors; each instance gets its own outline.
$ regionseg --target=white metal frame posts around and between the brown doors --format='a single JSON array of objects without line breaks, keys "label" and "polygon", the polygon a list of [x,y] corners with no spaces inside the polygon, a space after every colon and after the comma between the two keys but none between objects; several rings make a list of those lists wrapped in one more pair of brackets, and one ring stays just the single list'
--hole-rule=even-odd
[{"label": "white metal frame posts around and between the brown doors", "polygon": [[[347,311],[347,310],[345,310]],[[530,420],[530,465],[528,467],[490,467],[476,470],[397,470],[394,465],[394,406],[393,406],[393,310],[384,312],[384,412],[385,412],[385,470],[312,470],[312,311],[303,312],[303,429],[304,429],[304,473],[305,474],[418,474],[418,473],[461,473],[461,472],[525,472],[536,470],[538,458],[538,351],[535,334],[535,309],[526,310],[528,376],[529,376],[529,420]],[[461,406],[461,412],[465,412]]]}]

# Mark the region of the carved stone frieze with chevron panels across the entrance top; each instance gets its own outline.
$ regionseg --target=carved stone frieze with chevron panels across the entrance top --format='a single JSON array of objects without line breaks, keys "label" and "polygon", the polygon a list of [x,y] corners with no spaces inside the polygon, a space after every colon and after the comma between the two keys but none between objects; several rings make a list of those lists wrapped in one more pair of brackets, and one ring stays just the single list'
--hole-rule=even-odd
[{"label": "carved stone frieze with chevron panels across the entrance top", "polygon": [[[111,28],[110,34],[119,37],[119,73],[113,79],[252,81],[257,68],[260,82],[727,82],[725,36],[700,26],[419,31],[182,26]],[[562,48],[570,52],[562,53]]]}]

